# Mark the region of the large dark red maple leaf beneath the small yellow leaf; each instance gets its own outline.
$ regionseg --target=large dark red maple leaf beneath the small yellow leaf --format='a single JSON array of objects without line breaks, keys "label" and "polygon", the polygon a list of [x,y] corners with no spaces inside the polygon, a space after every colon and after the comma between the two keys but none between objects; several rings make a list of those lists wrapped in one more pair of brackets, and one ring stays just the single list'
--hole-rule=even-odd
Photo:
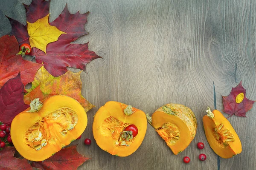
[{"label": "large dark red maple leaf beneath the small yellow leaf", "polygon": [[[44,0],[33,0],[29,6],[25,6],[27,9],[27,21],[33,23],[45,17],[49,13],[49,3],[49,1]],[[101,58],[95,52],[88,49],[88,42],[86,44],[70,44],[70,42],[77,40],[80,36],[88,34],[84,30],[88,14],[89,12],[85,14],[80,14],[79,12],[70,14],[66,6],[60,16],[50,25],[56,26],[67,34],[62,34],[58,41],[49,43],[47,45],[47,54],[38,48],[32,48],[31,55],[35,56],[36,62],[44,62],[44,67],[54,77],[66,73],[67,67],[84,70],[87,63],[93,59]],[[17,37],[18,42],[28,43],[27,27],[10,18],[9,20],[12,25],[11,34]]]}]

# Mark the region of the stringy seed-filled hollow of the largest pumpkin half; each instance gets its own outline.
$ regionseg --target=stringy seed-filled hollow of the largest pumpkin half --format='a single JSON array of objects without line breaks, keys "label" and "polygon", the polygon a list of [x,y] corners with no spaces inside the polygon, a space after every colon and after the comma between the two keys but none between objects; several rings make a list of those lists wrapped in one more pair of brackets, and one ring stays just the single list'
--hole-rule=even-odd
[{"label": "stringy seed-filled hollow of the largest pumpkin half", "polygon": [[70,130],[75,128],[77,122],[78,115],[72,109],[60,108],[55,110],[26,130],[24,133],[25,143],[35,150],[40,150],[47,144],[55,144],[60,140],[56,134],[67,135]]}]

